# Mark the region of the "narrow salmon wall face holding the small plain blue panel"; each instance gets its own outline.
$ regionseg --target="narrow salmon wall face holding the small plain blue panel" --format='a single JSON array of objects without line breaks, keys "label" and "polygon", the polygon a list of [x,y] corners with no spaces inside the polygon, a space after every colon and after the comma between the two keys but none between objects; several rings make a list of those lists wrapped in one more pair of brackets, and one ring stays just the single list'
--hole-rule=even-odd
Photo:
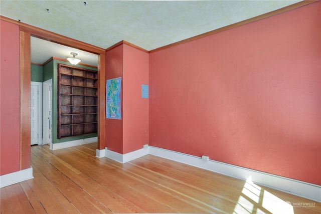
[{"label": "narrow salmon wall face holding the small plain blue panel", "polygon": [[123,153],[148,144],[148,103],[141,97],[141,85],[148,85],[149,55],[124,44]]}]

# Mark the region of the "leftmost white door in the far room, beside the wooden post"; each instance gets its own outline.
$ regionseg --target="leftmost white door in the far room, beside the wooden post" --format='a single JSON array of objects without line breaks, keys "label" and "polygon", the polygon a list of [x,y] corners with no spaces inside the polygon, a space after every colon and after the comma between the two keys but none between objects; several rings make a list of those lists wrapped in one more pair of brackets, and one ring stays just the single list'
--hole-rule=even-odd
[{"label": "leftmost white door in the far room, beside the wooden post", "polygon": [[42,83],[31,82],[31,145],[42,144]]}]

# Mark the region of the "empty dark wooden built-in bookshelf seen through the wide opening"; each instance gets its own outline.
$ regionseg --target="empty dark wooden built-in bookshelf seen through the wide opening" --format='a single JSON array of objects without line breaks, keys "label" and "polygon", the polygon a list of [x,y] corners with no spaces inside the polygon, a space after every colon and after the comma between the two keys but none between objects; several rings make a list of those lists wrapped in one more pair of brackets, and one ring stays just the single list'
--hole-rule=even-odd
[{"label": "empty dark wooden built-in bookshelf seen through the wide opening", "polygon": [[97,133],[97,72],[58,64],[58,138]]}]

